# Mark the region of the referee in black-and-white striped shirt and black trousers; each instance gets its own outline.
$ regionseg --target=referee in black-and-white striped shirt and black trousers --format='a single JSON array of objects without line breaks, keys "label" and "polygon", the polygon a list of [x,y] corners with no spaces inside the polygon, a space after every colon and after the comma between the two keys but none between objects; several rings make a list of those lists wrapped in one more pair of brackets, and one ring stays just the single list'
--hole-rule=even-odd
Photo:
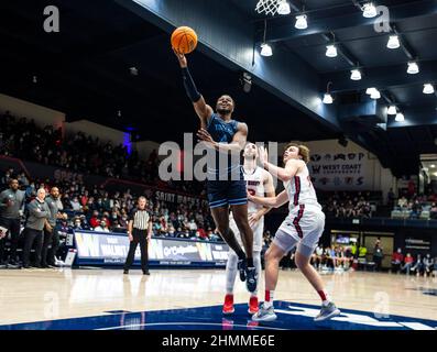
[{"label": "referee in black-and-white striped shirt and black trousers", "polygon": [[152,219],[149,211],[145,209],[146,205],[148,200],[144,197],[140,197],[138,199],[136,209],[134,209],[129,216],[128,235],[131,244],[124,263],[124,274],[129,274],[129,268],[131,267],[135,256],[136,246],[140,243],[141,268],[144,275],[150,275],[148,263],[148,242],[152,237]]}]

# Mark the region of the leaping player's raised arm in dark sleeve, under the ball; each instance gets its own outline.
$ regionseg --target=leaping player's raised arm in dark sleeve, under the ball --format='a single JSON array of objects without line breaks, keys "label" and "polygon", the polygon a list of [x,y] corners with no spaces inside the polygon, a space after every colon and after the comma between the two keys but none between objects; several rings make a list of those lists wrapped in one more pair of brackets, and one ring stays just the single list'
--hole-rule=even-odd
[{"label": "leaping player's raised arm in dark sleeve, under the ball", "polygon": [[208,106],[204,97],[198,92],[196,84],[188,69],[187,58],[184,54],[175,52],[179,65],[182,68],[182,77],[184,79],[184,87],[187,92],[188,98],[192,100],[194,109],[200,119],[201,128],[206,129],[208,121],[212,116],[212,108]]}]

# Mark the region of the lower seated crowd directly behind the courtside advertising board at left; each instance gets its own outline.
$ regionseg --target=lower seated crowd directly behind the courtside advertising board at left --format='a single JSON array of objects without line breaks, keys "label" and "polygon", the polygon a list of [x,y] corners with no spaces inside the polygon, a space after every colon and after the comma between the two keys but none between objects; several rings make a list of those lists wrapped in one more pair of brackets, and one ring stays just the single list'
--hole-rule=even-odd
[{"label": "lower seated crowd directly behind the courtside advertising board at left", "polygon": [[[8,188],[13,169],[8,169],[1,177],[1,190]],[[61,189],[59,209],[68,215],[64,226],[70,229],[124,231],[128,215],[135,207],[134,195],[130,189],[109,193],[95,185],[87,187],[81,180],[52,183],[50,180],[29,180],[24,173],[18,176],[21,188],[25,190],[26,201],[35,198],[39,188],[50,193],[52,186]],[[214,221],[206,202],[171,204],[157,201],[153,191],[148,195],[149,209],[152,215],[153,233],[156,237],[199,238],[219,240],[212,232]],[[201,205],[201,206],[199,206]]]}]

